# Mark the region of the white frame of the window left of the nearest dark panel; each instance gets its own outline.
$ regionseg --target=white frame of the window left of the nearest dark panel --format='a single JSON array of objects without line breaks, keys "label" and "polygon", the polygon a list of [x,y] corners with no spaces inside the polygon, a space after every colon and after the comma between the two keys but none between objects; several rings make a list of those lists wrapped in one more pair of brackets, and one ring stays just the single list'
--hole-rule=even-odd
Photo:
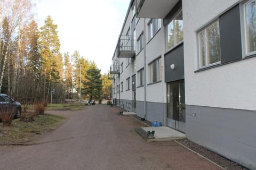
[{"label": "white frame of the window left of the nearest dark panel", "polygon": [[[207,49],[208,48],[208,45],[207,45],[207,33],[206,33],[206,29],[210,28],[213,24],[217,23],[218,22],[218,25],[219,25],[219,31],[220,31],[220,22],[219,22],[219,18],[212,21],[211,23],[207,24],[203,29],[197,31],[197,54],[198,54],[198,64],[197,64],[197,68],[198,69],[203,69],[205,67],[210,67],[210,66],[213,66],[213,65],[218,65],[221,63],[221,49],[220,49],[220,60],[218,62],[215,62],[215,63],[211,63],[211,64],[207,64],[208,60],[207,58],[210,58],[207,56]],[[200,33],[201,32],[204,32],[204,65],[201,66],[201,61],[202,61],[202,58],[201,58],[201,41],[200,41]],[[219,35],[219,39],[220,39],[220,35]]]}]

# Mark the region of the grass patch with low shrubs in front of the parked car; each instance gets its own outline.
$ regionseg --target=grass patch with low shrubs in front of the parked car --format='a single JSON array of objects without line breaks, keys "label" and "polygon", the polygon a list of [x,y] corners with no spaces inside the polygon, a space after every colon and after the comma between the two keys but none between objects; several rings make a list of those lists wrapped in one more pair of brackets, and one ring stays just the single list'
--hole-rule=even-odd
[{"label": "grass patch with low shrubs in front of the parked car", "polygon": [[44,114],[35,116],[33,122],[22,122],[19,119],[13,120],[10,127],[3,128],[0,123],[0,145],[28,142],[39,134],[55,130],[63,122],[65,117],[59,115]]}]

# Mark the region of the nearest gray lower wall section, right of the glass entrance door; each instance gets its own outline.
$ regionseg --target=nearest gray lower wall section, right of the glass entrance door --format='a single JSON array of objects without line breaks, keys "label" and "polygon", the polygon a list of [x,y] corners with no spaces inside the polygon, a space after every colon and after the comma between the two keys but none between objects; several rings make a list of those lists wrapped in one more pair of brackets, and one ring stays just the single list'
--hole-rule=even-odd
[{"label": "nearest gray lower wall section, right of the glass entrance door", "polygon": [[186,109],[189,140],[256,169],[256,111],[191,105]]}]

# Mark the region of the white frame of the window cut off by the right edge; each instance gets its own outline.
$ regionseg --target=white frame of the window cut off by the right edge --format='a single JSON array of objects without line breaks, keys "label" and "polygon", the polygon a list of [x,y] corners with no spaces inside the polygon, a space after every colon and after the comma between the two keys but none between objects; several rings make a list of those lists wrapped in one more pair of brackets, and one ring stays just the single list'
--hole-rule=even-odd
[{"label": "white frame of the window cut off by the right edge", "polygon": [[[245,5],[248,3],[253,2],[254,0],[246,0],[244,2],[241,3],[240,5],[240,11],[241,11],[241,31],[242,31],[242,54],[243,54],[243,58],[251,56],[251,55],[255,55],[256,54],[256,50],[253,52],[247,52],[247,29],[246,29],[246,7]],[[256,6],[256,4],[255,4]],[[256,25],[255,25],[256,27]]]}]

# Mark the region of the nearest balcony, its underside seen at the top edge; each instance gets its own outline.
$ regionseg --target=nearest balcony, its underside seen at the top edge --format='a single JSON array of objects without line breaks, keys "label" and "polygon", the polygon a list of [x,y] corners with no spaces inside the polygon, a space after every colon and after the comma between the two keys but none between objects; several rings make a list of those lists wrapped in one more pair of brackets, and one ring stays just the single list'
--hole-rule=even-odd
[{"label": "nearest balcony, its underside seen at the top edge", "polygon": [[139,0],[137,17],[163,19],[178,2],[179,0]]}]

